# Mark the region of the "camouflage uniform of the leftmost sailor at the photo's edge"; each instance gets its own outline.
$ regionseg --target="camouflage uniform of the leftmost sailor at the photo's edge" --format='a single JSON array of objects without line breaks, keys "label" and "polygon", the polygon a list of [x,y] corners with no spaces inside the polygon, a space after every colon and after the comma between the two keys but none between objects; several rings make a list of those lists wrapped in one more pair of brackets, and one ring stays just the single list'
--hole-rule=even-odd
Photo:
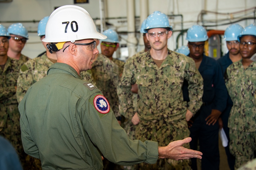
[{"label": "camouflage uniform of the leftmost sailor at the photo's edge", "polygon": [[18,75],[18,60],[8,57],[4,70],[0,67],[0,135],[12,143],[24,166],[26,154],[21,141],[20,114],[15,94]]}]

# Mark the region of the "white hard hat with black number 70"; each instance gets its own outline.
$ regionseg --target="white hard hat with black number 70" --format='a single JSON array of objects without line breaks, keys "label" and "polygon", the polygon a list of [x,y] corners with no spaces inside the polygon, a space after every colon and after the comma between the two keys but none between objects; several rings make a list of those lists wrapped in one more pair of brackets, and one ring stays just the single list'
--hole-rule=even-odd
[{"label": "white hard hat with black number 70", "polygon": [[94,38],[106,39],[107,37],[96,30],[91,16],[85,9],[75,5],[65,5],[57,8],[50,15],[46,24],[45,38],[42,41],[62,42],[60,43],[62,46],[57,45],[60,50],[67,41]]}]

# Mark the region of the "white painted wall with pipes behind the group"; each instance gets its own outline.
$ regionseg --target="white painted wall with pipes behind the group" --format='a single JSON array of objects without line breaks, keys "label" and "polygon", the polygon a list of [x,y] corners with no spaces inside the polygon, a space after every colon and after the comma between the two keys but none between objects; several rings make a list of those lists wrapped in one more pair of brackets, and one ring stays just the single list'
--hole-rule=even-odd
[{"label": "white painted wall with pipes behind the group", "polygon": [[[115,29],[118,32],[127,31],[127,20],[126,20],[126,1],[132,0],[105,0],[106,6],[106,18],[124,17],[118,19],[109,19],[108,23],[113,24],[108,28]],[[49,16],[55,7],[62,5],[74,5],[73,0],[13,0],[12,2],[1,2],[0,3],[0,23],[5,27],[9,27],[10,24],[15,22],[22,22],[24,26],[29,30],[29,40],[27,41],[22,53],[29,56],[30,58],[36,57],[41,52],[45,51],[42,46],[40,38],[37,36],[37,25],[38,21]],[[136,30],[140,30],[140,0],[134,0],[135,4],[135,19]],[[77,4],[76,4],[77,5]],[[86,9],[91,17],[94,19],[100,18],[99,0],[89,0],[89,4],[79,4],[78,6]],[[219,13],[234,13],[237,11],[242,11],[248,8],[256,7],[255,0],[148,0],[148,11],[149,14],[153,13],[155,10],[162,11],[167,15],[183,15],[183,29],[188,29],[191,25],[197,23],[197,17],[201,10],[215,11]],[[251,10],[253,11],[253,10]],[[212,13],[207,13],[201,15],[202,18],[207,20],[217,20],[214,24],[220,24],[221,19],[229,19],[230,22],[232,17],[243,17],[246,12],[231,15],[216,15]],[[253,12],[247,14],[247,17],[253,17]],[[144,18],[142,18],[143,20]],[[174,32],[172,37],[168,40],[168,48],[175,50],[176,48],[176,38],[181,30],[181,17],[171,17],[170,21],[173,26]],[[31,21],[31,22],[26,22]],[[35,21],[35,22],[32,22]],[[199,24],[201,20],[199,20]],[[96,23],[98,21],[95,20]],[[225,21],[227,23],[227,21]],[[253,23],[254,20],[244,20],[238,22],[241,26],[245,27]],[[206,23],[205,23],[206,24]],[[211,23],[212,24],[212,23]],[[208,24],[207,24],[208,25]],[[217,29],[225,30],[228,25],[206,27],[207,29]],[[100,27],[99,27],[100,28]],[[137,33],[137,38],[141,36]],[[126,44],[127,35],[125,33],[120,33],[122,37],[120,44]],[[185,40],[186,33],[184,34],[184,45],[187,44]],[[222,41],[222,49],[226,50],[226,43]],[[182,45],[182,39],[179,39],[179,46]],[[137,51],[140,51],[141,47],[138,47]],[[115,54],[114,57],[120,56]],[[125,58],[121,58],[125,59]]]}]

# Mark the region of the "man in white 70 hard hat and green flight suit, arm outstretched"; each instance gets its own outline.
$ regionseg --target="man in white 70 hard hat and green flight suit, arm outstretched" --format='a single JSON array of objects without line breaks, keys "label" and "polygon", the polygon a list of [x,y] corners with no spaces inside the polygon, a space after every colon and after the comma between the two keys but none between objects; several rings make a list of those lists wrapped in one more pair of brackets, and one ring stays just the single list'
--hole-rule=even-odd
[{"label": "man in white 70 hard hat and green flight suit, arm outstretched", "polygon": [[127,138],[101,91],[79,78],[99,53],[94,39],[105,38],[81,7],[62,6],[50,15],[43,41],[52,42],[47,46],[56,51],[57,63],[19,104],[25,152],[40,158],[42,169],[103,169],[101,154],[128,166],[158,157],[201,158],[201,152],[182,147],[191,138],[166,147]]}]

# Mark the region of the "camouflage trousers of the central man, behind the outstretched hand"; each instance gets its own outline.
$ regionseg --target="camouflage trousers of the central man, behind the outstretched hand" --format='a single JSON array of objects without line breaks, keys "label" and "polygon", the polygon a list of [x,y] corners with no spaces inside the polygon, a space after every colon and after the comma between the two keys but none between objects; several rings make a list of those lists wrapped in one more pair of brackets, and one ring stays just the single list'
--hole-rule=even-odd
[{"label": "camouflage trousers of the central man, behind the outstretched hand", "polygon": [[[151,122],[141,122],[137,125],[135,130],[135,138],[140,139],[143,142],[145,140],[153,140],[158,142],[158,146],[167,146],[170,142],[175,140],[181,140],[189,137],[189,130],[187,122],[185,120],[179,120],[179,122],[173,122],[169,124],[165,120],[155,120]],[[190,149],[189,143],[183,145],[183,147]],[[135,169],[158,169],[158,170],[170,170],[170,169],[191,169],[190,159],[175,161],[172,159],[158,159],[155,164],[140,163],[134,165]]]}]

